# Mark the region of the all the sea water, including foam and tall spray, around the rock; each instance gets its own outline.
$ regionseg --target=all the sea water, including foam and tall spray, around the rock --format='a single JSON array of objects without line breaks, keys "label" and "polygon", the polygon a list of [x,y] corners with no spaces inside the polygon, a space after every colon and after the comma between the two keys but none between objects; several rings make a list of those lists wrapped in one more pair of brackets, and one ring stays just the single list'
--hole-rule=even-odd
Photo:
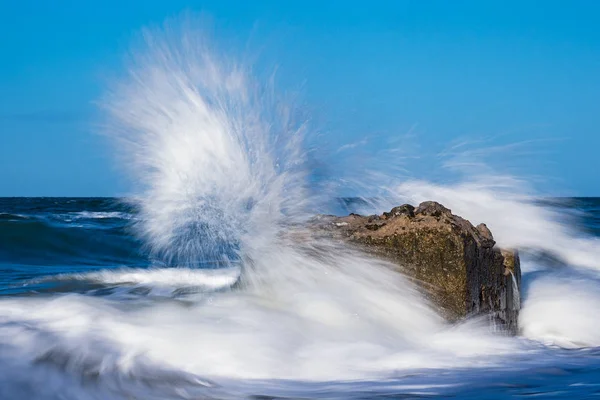
[{"label": "all the sea water, including foam and tall spray, around the rock", "polygon": [[[600,394],[598,199],[485,168],[315,180],[314,132],[273,80],[193,24],[142,36],[98,102],[132,193],[0,199],[0,399]],[[432,199],[521,252],[519,335],[447,323],[389,264],[304,225]]]}]

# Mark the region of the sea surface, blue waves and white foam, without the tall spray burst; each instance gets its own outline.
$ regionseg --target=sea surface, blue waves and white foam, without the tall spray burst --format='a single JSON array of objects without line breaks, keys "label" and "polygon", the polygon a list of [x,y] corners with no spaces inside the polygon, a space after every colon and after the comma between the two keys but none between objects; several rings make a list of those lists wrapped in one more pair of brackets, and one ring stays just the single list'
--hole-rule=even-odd
[{"label": "sea surface, blue waves and white foam, without the tall spray burst", "polygon": [[[536,207],[575,215],[586,240],[600,235],[599,198]],[[406,309],[394,302],[414,301],[410,289],[386,297],[383,282],[373,282],[382,299],[326,285],[327,298],[318,283],[295,282],[280,300],[236,287],[231,266],[158,260],[136,234],[140,218],[128,199],[0,199],[0,398],[600,395],[600,274],[559,255],[522,255],[521,334],[508,337]]]}]

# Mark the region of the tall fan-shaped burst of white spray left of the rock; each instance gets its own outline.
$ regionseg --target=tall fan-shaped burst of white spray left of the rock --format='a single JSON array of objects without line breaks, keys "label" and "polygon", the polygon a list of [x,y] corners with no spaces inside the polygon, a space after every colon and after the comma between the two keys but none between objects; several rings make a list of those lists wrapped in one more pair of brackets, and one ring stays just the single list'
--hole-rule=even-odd
[{"label": "tall fan-shaped burst of white spray left of the rock", "polygon": [[226,261],[301,216],[304,124],[205,35],[175,31],[144,32],[103,103],[108,133],[140,184],[139,231],[154,253]]}]

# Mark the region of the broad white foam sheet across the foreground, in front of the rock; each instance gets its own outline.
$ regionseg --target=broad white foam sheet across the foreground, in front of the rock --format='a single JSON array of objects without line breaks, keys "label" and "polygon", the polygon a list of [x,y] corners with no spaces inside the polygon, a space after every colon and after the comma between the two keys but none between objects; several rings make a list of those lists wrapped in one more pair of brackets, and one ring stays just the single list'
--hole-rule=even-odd
[{"label": "broad white foam sheet across the foreground, in front of the rock", "polygon": [[[322,268],[286,252],[268,260],[289,257],[303,268]],[[0,337],[28,359],[66,354],[75,374],[96,363],[90,368],[126,375],[146,359],[213,379],[357,379],[403,369],[492,366],[501,358],[483,360],[482,352],[508,356],[521,347],[481,327],[445,327],[387,267],[337,258],[335,266],[349,265],[355,274],[332,269],[314,276],[310,286],[295,281],[219,293],[185,306],[132,307],[78,295],[3,300]]]}]

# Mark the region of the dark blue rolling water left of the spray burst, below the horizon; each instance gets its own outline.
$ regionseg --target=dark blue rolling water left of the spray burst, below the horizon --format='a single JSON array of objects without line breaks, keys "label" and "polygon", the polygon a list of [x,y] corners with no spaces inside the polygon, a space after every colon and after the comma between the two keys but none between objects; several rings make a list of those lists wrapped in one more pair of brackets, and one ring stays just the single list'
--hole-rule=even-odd
[{"label": "dark blue rolling water left of the spray burst, below the horizon", "polygon": [[[135,209],[113,198],[0,198],[0,294],[37,277],[148,265]],[[21,289],[19,289],[21,286]]]}]

